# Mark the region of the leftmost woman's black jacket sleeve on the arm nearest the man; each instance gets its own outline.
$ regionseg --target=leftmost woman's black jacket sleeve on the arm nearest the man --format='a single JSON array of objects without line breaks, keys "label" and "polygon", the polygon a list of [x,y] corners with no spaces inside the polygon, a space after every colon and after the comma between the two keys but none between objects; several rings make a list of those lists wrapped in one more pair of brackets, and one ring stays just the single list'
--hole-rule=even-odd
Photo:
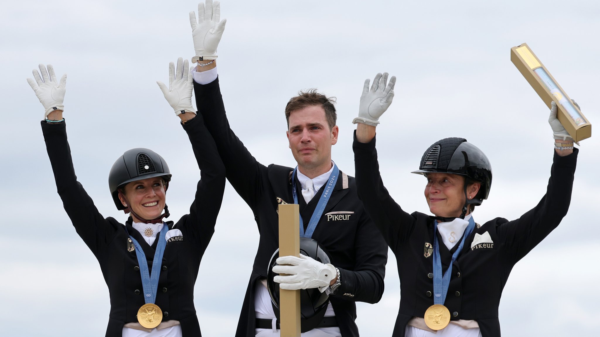
[{"label": "leftmost woman's black jacket sleeve on the arm nearest the man", "polygon": [[185,218],[185,226],[197,236],[197,242],[200,242],[204,251],[215,231],[215,222],[221,209],[225,189],[225,167],[211,134],[206,130],[202,115],[196,115],[182,126],[190,138],[200,169],[196,198]]}]

